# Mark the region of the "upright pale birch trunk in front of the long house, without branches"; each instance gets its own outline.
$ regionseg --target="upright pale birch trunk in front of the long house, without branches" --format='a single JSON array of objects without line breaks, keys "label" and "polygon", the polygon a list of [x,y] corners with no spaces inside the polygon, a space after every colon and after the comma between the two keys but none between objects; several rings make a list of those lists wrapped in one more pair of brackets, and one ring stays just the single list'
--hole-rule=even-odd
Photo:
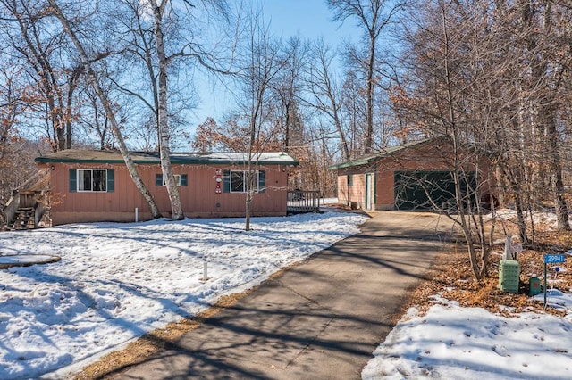
[{"label": "upright pale birch trunk in front of the long house, without branches", "polygon": [[167,67],[168,60],[164,52],[164,35],[162,29],[162,20],[165,4],[167,0],[163,0],[159,6],[154,6],[153,14],[155,17],[155,38],[157,49],[157,60],[159,62],[159,109],[157,128],[159,129],[159,155],[161,157],[161,170],[169,201],[171,202],[172,219],[181,220],[185,218],[181,206],[181,196],[175,177],[172,174],[171,167],[171,148],[169,146],[169,122],[167,119]]}]

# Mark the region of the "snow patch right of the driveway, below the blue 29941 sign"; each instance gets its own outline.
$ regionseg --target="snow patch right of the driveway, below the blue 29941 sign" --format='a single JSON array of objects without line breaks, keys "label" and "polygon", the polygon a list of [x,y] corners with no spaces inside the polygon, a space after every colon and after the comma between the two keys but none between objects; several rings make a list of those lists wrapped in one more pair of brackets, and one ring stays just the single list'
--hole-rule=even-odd
[{"label": "snow patch right of the driveway, below the blue 29941 sign", "polygon": [[[510,211],[502,212],[502,217],[510,216]],[[556,220],[549,213],[535,218]],[[563,265],[559,269],[566,271]],[[572,294],[552,289],[558,281],[549,279],[547,303],[565,310],[563,318],[532,311],[505,318],[434,295],[436,304],[425,315],[411,308],[401,318],[374,351],[362,378],[570,379]],[[534,299],[544,302],[544,294]]]}]

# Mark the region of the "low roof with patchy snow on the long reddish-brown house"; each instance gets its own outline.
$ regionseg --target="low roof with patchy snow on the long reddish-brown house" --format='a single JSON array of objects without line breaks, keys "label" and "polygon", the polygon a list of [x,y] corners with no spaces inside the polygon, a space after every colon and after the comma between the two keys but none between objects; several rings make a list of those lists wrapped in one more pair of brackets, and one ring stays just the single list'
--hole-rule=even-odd
[{"label": "low roof with patchy snow on the long reddish-brown house", "polygon": [[[131,159],[139,164],[158,164],[158,152],[130,152]],[[37,157],[37,162],[66,163],[123,163],[122,154],[117,151],[86,151],[66,149]],[[284,152],[253,153],[253,161],[264,165],[299,165],[290,154]],[[234,164],[248,163],[248,153],[171,153],[173,164]]]}]

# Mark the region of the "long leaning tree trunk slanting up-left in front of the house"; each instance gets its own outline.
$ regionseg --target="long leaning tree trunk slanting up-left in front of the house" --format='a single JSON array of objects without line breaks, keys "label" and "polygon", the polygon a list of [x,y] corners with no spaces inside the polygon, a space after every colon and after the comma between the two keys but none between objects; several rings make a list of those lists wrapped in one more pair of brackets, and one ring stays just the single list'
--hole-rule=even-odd
[{"label": "long leaning tree trunk slanting up-left in front of the house", "polygon": [[122,136],[121,130],[119,129],[119,126],[117,124],[117,120],[115,120],[115,114],[114,114],[113,110],[111,109],[109,99],[107,99],[105,92],[103,91],[103,89],[99,85],[99,81],[97,80],[96,72],[93,70],[93,68],[91,67],[91,63],[89,62],[88,54],[86,54],[86,51],[83,48],[83,45],[81,45],[80,40],[75,35],[75,32],[71,29],[70,22],[63,15],[62,10],[55,3],[55,0],[48,0],[48,3],[50,4],[50,6],[52,8],[52,12],[54,12],[55,17],[57,17],[57,19],[62,23],[63,29],[65,30],[65,33],[70,37],[71,41],[73,42],[73,45],[75,45],[76,50],[78,51],[78,54],[80,54],[81,64],[83,65],[84,70],[88,73],[88,81],[91,84],[91,86],[93,87],[94,91],[96,92],[97,97],[99,98],[99,101],[103,104],[103,106],[105,108],[105,113],[107,115],[107,118],[111,122],[112,131],[114,132],[114,136],[117,139],[117,143],[119,144],[119,150],[122,153],[123,160],[125,161],[125,165],[127,166],[127,169],[129,171],[131,178],[133,178],[133,182],[134,182],[135,186],[137,186],[139,192],[141,193],[141,195],[143,196],[143,198],[147,202],[147,205],[149,206],[149,210],[151,211],[151,216],[154,219],[160,218],[161,212],[159,212],[159,208],[157,207],[156,202],[153,199],[153,196],[149,193],[147,186],[145,186],[145,184],[143,183],[143,181],[139,177],[139,173],[137,172],[137,169],[135,168],[135,164],[131,160],[130,153],[127,150],[127,146],[125,145],[125,141],[123,140],[123,136]]}]

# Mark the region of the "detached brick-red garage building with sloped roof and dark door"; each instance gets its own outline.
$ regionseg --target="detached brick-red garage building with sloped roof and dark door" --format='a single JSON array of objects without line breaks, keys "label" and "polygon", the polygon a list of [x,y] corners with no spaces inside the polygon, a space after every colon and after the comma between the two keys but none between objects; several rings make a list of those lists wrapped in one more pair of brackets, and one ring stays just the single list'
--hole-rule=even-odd
[{"label": "detached brick-red garage building with sloped roof and dark door", "polygon": [[[431,138],[391,146],[383,152],[366,154],[329,169],[338,172],[338,201],[352,208],[450,208],[456,207],[451,152],[450,142],[446,138]],[[486,178],[488,170],[480,174],[481,178]],[[469,197],[484,199],[488,196],[486,194],[490,194],[488,180],[481,180],[477,186],[475,172],[470,167],[465,170],[465,175],[461,189],[467,194],[473,193]]]}]

